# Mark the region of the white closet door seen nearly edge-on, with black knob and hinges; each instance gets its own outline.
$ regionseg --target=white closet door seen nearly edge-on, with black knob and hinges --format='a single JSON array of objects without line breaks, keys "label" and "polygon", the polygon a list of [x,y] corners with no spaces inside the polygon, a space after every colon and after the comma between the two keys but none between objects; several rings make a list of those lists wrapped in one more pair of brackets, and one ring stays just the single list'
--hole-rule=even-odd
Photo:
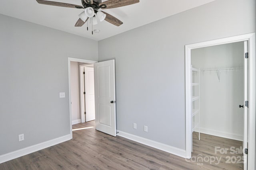
[{"label": "white closet door seen nearly edge-on, with black knob and hinges", "polygon": [[247,170],[247,154],[248,154],[248,41],[244,41],[244,140],[243,140],[244,170]]}]

